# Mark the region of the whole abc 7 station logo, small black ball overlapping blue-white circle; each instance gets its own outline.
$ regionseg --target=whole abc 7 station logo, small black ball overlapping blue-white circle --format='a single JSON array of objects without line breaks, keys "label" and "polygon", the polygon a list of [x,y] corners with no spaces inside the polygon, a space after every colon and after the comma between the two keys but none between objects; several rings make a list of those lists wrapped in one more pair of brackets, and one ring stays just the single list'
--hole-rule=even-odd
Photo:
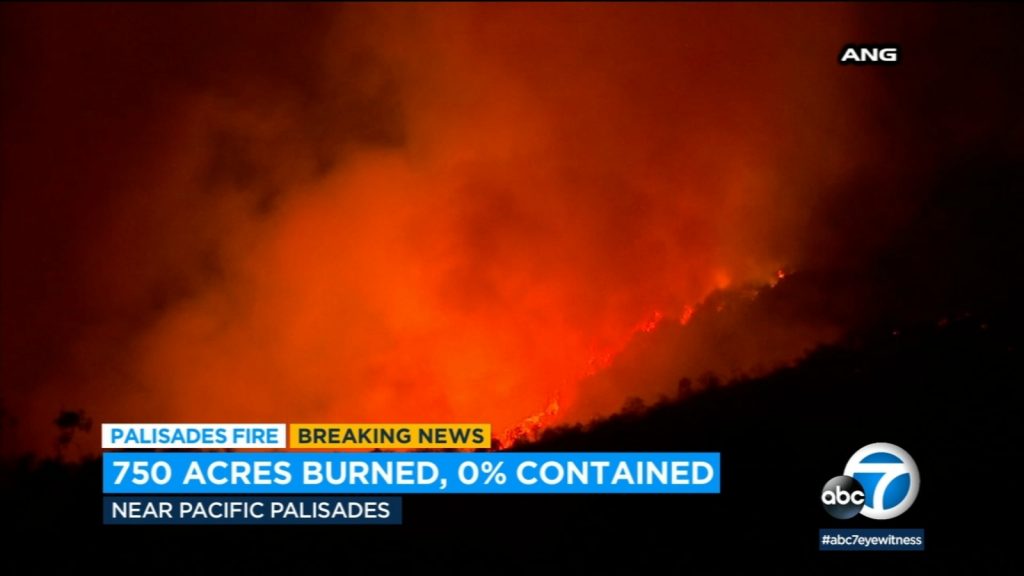
[{"label": "whole abc 7 station logo, small black ball overlapping blue-white circle", "polygon": [[821,489],[821,505],[840,520],[858,513],[872,520],[896,518],[913,504],[921,488],[918,464],[910,454],[885,442],[857,450],[843,475]]}]

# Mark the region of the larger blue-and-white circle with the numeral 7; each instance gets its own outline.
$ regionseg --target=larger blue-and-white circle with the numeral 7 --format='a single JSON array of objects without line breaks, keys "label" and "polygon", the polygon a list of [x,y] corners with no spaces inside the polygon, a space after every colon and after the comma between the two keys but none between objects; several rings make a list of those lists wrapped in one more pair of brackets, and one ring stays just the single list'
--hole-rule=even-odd
[{"label": "larger blue-and-white circle with the numeral 7", "polygon": [[890,520],[905,512],[921,488],[921,475],[913,458],[906,450],[887,442],[857,450],[843,474],[860,483],[864,491],[860,513],[872,520]]}]

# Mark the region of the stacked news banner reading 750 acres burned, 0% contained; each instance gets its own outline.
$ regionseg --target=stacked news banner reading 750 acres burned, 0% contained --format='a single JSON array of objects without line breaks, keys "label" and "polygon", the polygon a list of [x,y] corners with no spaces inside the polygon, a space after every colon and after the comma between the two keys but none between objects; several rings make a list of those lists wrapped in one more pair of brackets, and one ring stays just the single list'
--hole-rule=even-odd
[{"label": "stacked news banner reading 750 acres burned, 0% contained", "polygon": [[[105,524],[401,524],[398,494],[717,494],[720,482],[718,453],[460,452],[489,448],[490,424],[478,423],[103,424],[102,435],[105,450],[136,450],[103,454]],[[166,451],[182,449],[247,451]],[[438,449],[449,451],[415,451]]]}]

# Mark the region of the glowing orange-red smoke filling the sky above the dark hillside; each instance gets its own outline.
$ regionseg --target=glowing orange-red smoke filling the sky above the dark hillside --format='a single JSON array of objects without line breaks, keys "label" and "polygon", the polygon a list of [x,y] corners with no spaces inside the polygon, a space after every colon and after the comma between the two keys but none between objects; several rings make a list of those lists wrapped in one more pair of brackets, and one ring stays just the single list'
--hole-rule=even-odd
[{"label": "glowing orange-red smoke filling the sky above the dark hillside", "polygon": [[838,67],[865,10],[4,8],[5,448],[61,408],[500,430],[792,360],[841,323],[614,355],[910,217],[885,122],[930,73]]}]

